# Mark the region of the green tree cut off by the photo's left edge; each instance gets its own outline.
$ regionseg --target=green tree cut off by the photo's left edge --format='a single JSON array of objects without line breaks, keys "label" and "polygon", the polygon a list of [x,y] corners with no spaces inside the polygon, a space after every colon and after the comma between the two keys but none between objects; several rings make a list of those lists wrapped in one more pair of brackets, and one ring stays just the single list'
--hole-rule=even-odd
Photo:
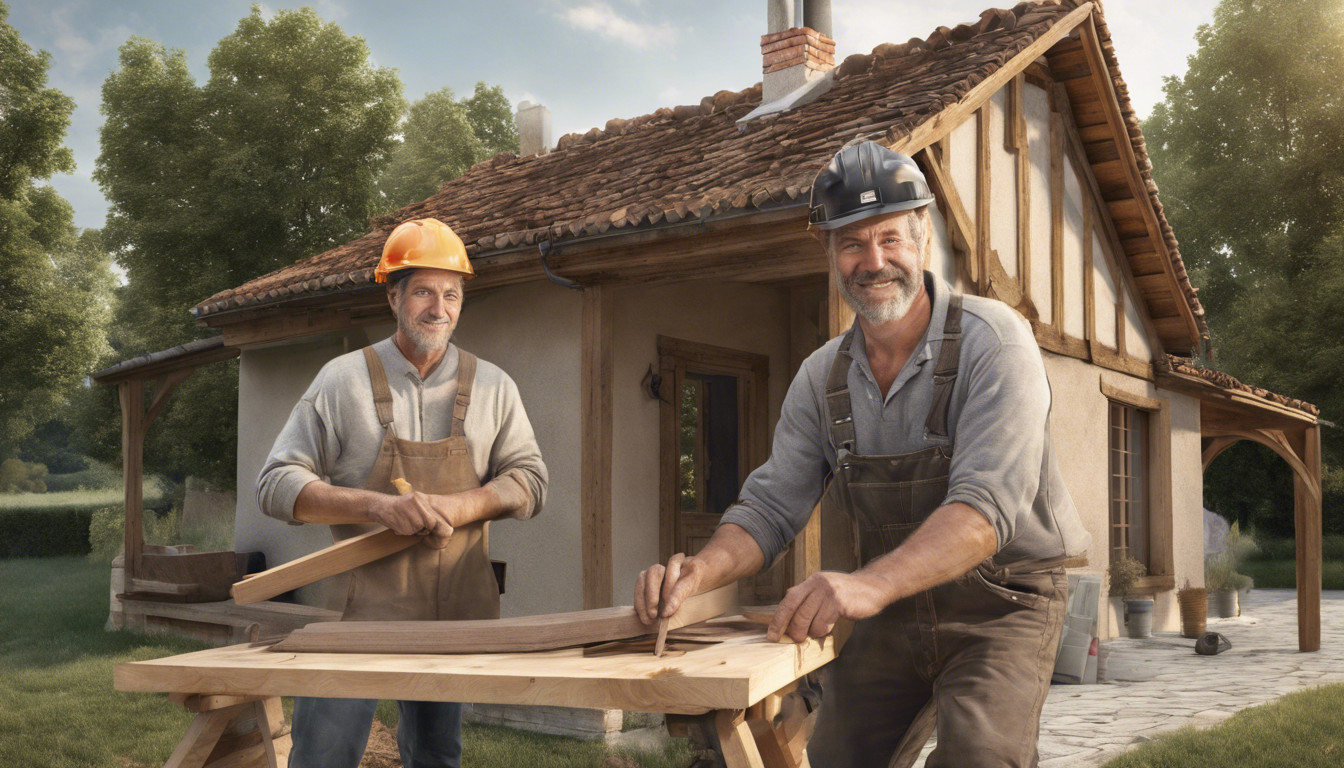
[{"label": "green tree cut off by the photo's left edge", "polygon": [[108,257],[70,204],[35,182],[74,169],[74,101],[47,87],[50,55],[0,3],[0,457],[51,418],[105,348]]}]

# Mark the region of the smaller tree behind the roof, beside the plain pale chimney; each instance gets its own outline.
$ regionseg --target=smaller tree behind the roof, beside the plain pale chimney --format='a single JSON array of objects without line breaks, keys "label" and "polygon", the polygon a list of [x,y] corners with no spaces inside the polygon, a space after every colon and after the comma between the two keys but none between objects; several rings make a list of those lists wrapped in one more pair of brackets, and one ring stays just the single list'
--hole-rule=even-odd
[{"label": "smaller tree behind the roof, beside the plain pale chimney", "polygon": [[379,178],[380,207],[423,200],[468,168],[500,152],[517,152],[513,109],[499,86],[476,83],[470,98],[453,89],[425,94],[402,124],[402,143]]}]

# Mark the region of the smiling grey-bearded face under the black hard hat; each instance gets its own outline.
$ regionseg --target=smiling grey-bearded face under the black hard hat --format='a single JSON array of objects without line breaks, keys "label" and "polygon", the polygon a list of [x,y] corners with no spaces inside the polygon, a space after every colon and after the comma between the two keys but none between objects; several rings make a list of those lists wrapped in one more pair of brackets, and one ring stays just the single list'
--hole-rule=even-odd
[{"label": "smiling grey-bearded face under the black hard hat", "polygon": [[829,233],[836,286],[855,313],[874,324],[905,317],[923,288],[926,217],[900,211]]}]

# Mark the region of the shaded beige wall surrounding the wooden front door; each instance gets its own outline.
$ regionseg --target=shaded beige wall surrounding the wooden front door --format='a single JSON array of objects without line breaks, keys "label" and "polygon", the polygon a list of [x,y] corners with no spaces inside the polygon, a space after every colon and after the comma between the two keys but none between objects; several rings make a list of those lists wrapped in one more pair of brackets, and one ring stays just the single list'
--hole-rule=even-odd
[{"label": "shaded beige wall surrounding the wooden front door", "polygon": [[613,594],[628,605],[640,570],[659,560],[659,402],[640,382],[657,370],[657,336],[770,358],[770,434],[788,390],[789,293],[742,282],[617,288],[613,307]]}]

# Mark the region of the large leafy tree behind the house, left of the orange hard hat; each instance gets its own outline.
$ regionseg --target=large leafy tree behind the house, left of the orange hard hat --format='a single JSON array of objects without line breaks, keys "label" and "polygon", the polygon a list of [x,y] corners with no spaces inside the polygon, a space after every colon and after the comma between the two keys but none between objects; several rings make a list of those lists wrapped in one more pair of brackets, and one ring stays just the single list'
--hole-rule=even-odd
[{"label": "large leafy tree behind the house, left of the orange hard hat", "polygon": [[[368,59],[362,38],[310,8],[266,20],[253,7],[210,54],[204,85],[184,51],[121,47],[94,175],[128,278],[117,359],[207,335],[195,304],[367,231],[406,106],[395,70]],[[237,387],[237,363],[194,374],[148,436],[145,465],[231,484]],[[109,397],[91,399],[89,420],[114,420]]]}]

